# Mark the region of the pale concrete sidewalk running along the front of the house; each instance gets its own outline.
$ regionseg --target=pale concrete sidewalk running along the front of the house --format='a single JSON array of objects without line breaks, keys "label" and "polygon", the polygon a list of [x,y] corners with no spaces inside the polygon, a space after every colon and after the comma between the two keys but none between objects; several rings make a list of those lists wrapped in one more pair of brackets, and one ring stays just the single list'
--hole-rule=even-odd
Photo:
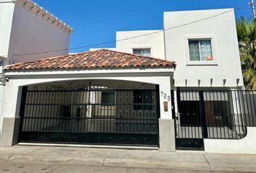
[{"label": "pale concrete sidewalk running along the front of the house", "polygon": [[256,172],[256,155],[208,154],[200,151],[166,153],[158,150],[13,146],[0,147],[0,162],[215,172]]}]

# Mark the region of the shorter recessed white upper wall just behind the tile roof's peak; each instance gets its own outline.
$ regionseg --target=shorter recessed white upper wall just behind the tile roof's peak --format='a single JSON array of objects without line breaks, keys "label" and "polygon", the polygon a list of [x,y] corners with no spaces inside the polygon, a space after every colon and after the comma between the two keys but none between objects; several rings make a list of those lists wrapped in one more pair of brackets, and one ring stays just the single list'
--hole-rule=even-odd
[{"label": "shorter recessed white upper wall just behind the tile roof's peak", "polygon": [[[157,33],[153,33],[157,32]],[[138,35],[146,35],[136,37]],[[151,57],[165,58],[163,32],[161,30],[140,30],[140,31],[119,31],[116,32],[116,40],[122,40],[128,37],[136,37],[130,40],[116,42],[116,50],[121,52],[133,53],[133,48],[150,48]]]}]

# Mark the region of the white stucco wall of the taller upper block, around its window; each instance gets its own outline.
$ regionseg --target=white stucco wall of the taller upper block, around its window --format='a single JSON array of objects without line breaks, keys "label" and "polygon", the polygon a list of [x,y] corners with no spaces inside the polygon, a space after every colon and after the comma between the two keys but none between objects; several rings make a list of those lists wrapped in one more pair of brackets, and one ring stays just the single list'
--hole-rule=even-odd
[{"label": "white stucco wall of the taller upper block, around its window", "polygon": [[[183,27],[165,31],[166,58],[176,61],[174,73],[175,86],[239,86],[243,85],[242,70],[239,61],[239,47],[236,36],[236,22],[232,9],[213,9],[187,12],[165,12],[164,29],[177,27],[189,22],[202,20]],[[231,12],[230,12],[231,11]],[[226,13],[223,13],[226,12]],[[213,17],[218,15],[217,17]],[[214,64],[188,65],[188,38],[212,38]]]}]

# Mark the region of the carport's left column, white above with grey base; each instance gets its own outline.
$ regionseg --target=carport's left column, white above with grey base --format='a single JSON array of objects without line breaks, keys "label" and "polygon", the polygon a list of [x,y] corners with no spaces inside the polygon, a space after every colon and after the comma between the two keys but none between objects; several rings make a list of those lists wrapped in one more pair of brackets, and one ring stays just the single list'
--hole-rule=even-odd
[{"label": "carport's left column, white above with grey base", "polygon": [[1,113],[1,146],[13,146],[18,142],[21,95],[21,87],[7,83]]}]

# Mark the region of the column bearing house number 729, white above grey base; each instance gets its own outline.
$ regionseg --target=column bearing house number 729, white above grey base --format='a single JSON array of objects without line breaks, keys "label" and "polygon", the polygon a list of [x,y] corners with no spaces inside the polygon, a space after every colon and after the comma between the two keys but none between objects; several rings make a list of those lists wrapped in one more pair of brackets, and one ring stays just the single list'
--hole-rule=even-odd
[{"label": "column bearing house number 729, white above grey base", "polygon": [[[166,77],[167,78],[167,77]],[[171,115],[171,78],[162,79],[159,84],[160,119],[159,142],[160,151],[175,151],[175,125]],[[168,110],[164,109],[164,102],[168,103]]]}]

